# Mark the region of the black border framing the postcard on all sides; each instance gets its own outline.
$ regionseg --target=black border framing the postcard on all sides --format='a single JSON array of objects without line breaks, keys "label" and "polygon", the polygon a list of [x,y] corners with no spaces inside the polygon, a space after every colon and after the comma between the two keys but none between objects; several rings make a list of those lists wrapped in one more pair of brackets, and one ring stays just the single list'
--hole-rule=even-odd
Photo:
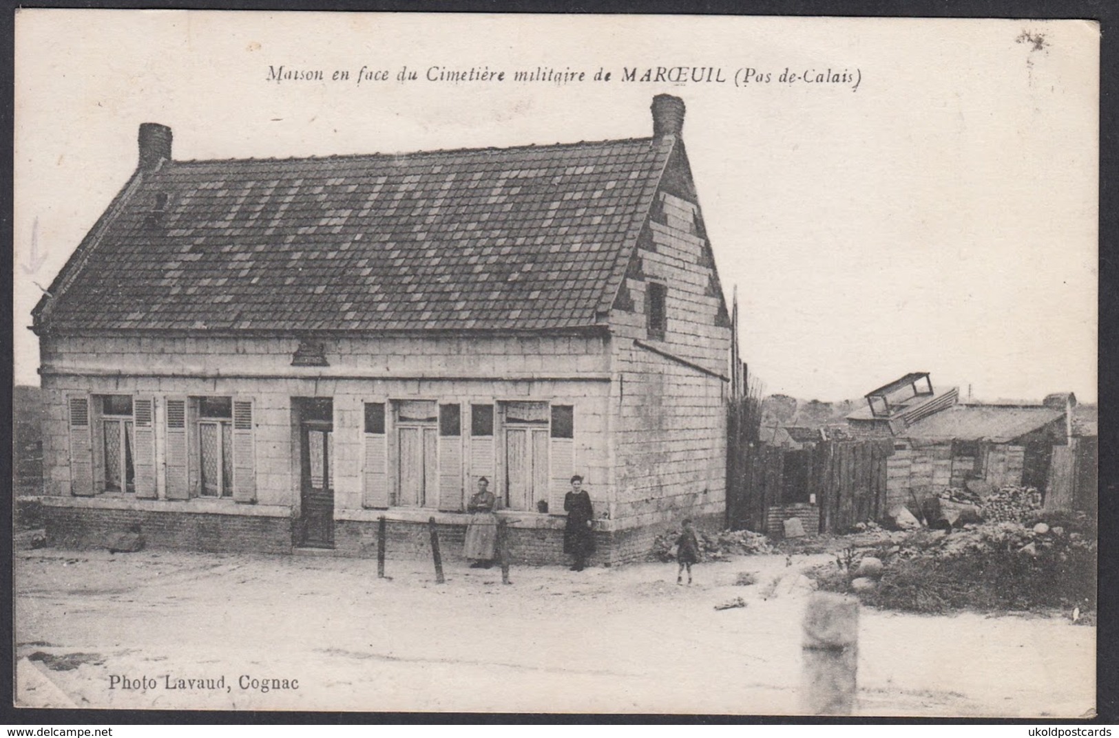
[{"label": "black border framing the postcard on all sides", "polygon": [[[3,44],[3,63],[0,63],[0,82],[4,104],[0,105],[0,123],[4,149],[3,177],[0,191],[4,208],[0,212],[0,227],[9,244],[12,233],[12,173],[13,173],[13,105],[15,105],[15,15],[22,8],[97,8],[97,9],[199,9],[199,10],[335,10],[335,11],[412,11],[412,12],[507,12],[507,13],[641,13],[641,15],[728,15],[728,16],[833,16],[833,17],[896,17],[896,18],[1012,18],[1012,19],[1090,19],[1101,23],[1100,56],[1100,291],[1099,291],[1099,405],[1100,422],[1100,539],[1101,566],[1099,576],[1099,613],[1097,628],[1097,710],[1092,720],[993,720],[993,719],[937,719],[937,718],[812,718],[765,716],[702,716],[702,715],[551,715],[551,713],[408,713],[408,712],[286,712],[286,711],[170,711],[170,710],[46,710],[13,708],[13,624],[2,619],[2,656],[6,669],[0,669],[0,692],[7,697],[0,703],[0,722],[11,725],[66,726],[66,725],[167,725],[167,723],[224,723],[224,725],[1023,725],[1023,726],[1088,726],[1119,722],[1119,641],[1116,638],[1115,612],[1119,605],[1119,576],[1117,576],[1117,541],[1111,534],[1119,522],[1119,480],[1116,474],[1117,438],[1110,419],[1116,405],[1119,382],[1110,367],[1119,366],[1119,253],[1116,248],[1119,225],[1119,197],[1117,197],[1116,162],[1119,160],[1116,123],[1117,47],[1112,29],[1115,4],[1108,0],[755,0],[749,4],[735,0],[699,0],[693,3],[670,0],[585,0],[547,2],[546,0],[27,0],[16,3],[3,0],[0,16],[0,36]],[[946,72],[950,74],[950,72]],[[13,252],[4,249],[3,266],[12,268]],[[3,327],[9,349],[12,347],[12,322]],[[1051,357],[1060,360],[1059,357]],[[3,370],[8,378],[8,392],[0,392],[0,416],[11,426],[12,366]],[[10,437],[9,437],[10,441]],[[8,480],[11,499],[12,445],[4,444],[0,455],[0,477]],[[2,505],[0,523],[11,530],[11,504]],[[10,538],[8,539],[10,543]],[[7,597],[11,613],[12,564],[11,546],[2,547],[3,567],[0,568],[0,593]],[[959,657],[960,668],[967,668],[967,654],[946,654]]]}]

